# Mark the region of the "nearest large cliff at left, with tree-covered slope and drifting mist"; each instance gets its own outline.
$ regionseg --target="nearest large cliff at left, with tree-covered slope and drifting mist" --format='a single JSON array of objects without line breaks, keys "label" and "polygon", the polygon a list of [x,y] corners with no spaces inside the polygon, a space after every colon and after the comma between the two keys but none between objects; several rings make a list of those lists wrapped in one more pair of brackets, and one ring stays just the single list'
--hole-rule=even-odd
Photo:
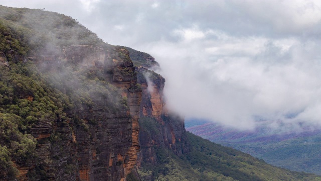
[{"label": "nearest large cliff at left, with tree-covered slope and drifting mist", "polygon": [[124,180],[139,151],[141,100],[128,51],[64,15],[0,15],[0,179]]}]

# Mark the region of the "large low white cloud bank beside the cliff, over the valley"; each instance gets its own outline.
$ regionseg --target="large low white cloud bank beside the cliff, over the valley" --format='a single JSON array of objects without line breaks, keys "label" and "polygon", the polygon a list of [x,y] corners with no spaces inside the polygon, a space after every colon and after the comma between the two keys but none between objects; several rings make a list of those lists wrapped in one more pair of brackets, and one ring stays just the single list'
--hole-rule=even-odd
[{"label": "large low white cloud bank beside the cliff, over the valley", "polygon": [[170,109],[239,129],[267,122],[321,124],[315,42],[222,37],[145,46],[161,63]]}]

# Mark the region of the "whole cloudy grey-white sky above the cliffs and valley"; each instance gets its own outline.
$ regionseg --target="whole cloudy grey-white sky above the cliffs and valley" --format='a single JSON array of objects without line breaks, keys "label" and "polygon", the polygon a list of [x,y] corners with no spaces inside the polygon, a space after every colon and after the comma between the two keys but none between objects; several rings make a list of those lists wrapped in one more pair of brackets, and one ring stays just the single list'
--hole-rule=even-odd
[{"label": "whole cloudy grey-white sky above the cliffs and valley", "polygon": [[238,129],[321,126],[320,1],[7,1],[152,55],[170,110]]}]

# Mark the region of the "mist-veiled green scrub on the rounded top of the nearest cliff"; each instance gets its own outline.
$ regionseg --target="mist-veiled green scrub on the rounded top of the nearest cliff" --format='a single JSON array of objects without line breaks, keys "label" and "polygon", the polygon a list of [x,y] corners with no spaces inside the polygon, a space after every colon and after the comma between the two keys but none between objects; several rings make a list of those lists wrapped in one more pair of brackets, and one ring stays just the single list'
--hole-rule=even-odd
[{"label": "mist-veiled green scrub on the rounded top of the nearest cliff", "polygon": [[19,40],[28,42],[33,50],[48,46],[46,42],[59,46],[105,44],[77,20],[63,14],[0,6],[0,17],[7,21],[7,26],[15,31]]}]

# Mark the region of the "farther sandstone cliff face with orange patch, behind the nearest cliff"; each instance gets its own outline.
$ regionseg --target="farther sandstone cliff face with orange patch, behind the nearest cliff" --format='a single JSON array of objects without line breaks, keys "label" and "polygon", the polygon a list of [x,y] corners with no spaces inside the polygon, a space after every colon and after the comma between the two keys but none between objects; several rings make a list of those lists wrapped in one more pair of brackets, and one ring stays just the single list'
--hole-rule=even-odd
[{"label": "farther sandstone cliff face with orange patch, behind the nearest cliff", "polygon": [[138,82],[142,87],[139,120],[141,149],[138,167],[142,163],[157,164],[159,160],[157,160],[156,149],[170,149],[176,155],[187,153],[189,149],[184,145],[186,141],[184,119],[165,109],[163,96],[165,79],[142,66],[137,67],[136,71]]}]

